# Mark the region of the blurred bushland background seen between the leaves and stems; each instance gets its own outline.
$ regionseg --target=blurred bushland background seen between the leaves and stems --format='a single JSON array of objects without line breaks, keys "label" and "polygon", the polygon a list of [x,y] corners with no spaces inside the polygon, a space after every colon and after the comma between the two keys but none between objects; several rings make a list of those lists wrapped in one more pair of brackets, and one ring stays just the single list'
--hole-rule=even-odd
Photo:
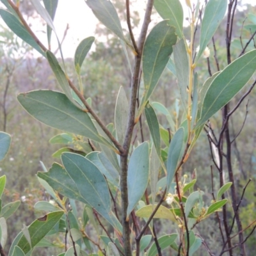
[{"label": "blurred bushland background seen between the leaves and stems", "polygon": [[[21,6],[27,15],[35,15],[28,1],[21,1]],[[113,1],[121,17],[124,17],[124,4],[120,1]],[[239,12],[235,15],[234,22],[234,41],[232,43],[232,56],[237,57],[241,52],[241,40],[246,42],[246,38],[250,38],[252,30],[250,24],[256,26],[256,6],[239,5]],[[156,15],[156,13],[154,13]],[[140,24],[140,15],[134,12],[132,15],[132,23],[134,27]],[[35,16],[35,19],[40,19]],[[186,29],[185,29],[186,30]],[[68,31],[67,31],[68,33]],[[186,31],[189,35],[189,31]],[[185,34],[186,34],[185,33]],[[92,98],[93,108],[99,113],[105,124],[114,119],[116,95],[120,86],[124,86],[127,92],[129,91],[130,70],[127,60],[125,59],[124,51],[120,41],[115,36],[98,24],[95,30],[96,42],[95,50],[90,52],[86,58],[86,63],[83,65],[81,74],[83,76],[84,93],[86,97]],[[97,37],[99,38],[97,40]],[[189,38],[189,36],[188,36]],[[215,36],[216,52],[222,69],[227,65],[227,58],[225,52],[225,20]],[[256,38],[255,38],[256,39]],[[198,38],[197,38],[198,40]],[[245,43],[244,43],[245,44]],[[8,220],[9,243],[17,235],[22,228],[22,224],[28,225],[35,220],[35,211],[33,205],[43,198],[47,197],[36,179],[36,172],[42,170],[40,161],[44,162],[45,166],[49,168],[52,161],[59,161],[57,158],[52,158],[52,154],[60,148],[60,145],[52,145],[49,140],[52,136],[58,134],[51,127],[47,127],[34,120],[31,116],[21,108],[16,100],[19,92],[28,92],[29,90],[36,90],[39,88],[59,90],[54,76],[48,66],[47,60],[43,58],[35,58],[32,49],[17,39],[12,32],[0,26],[0,129],[12,135],[12,147],[8,153],[8,157],[1,162],[0,174],[7,176],[7,186],[5,190],[4,202],[12,202],[15,200],[22,200],[22,204],[18,211]],[[250,45],[252,49],[255,47],[255,42]],[[214,64],[214,50],[212,44],[209,45],[211,56],[209,63],[211,65],[211,72],[216,72]],[[132,56],[131,56],[132,58]],[[66,65],[70,78],[76,82],[76,73],[74,72],[74,65],[72,59],[67,59]],[[200,76],[198,77],[199,86],[209,77],[207,60],[202,60],[200,65]],[[248,89],[244,88],[244,92]],[[231,102],[231,106],[235,106],[244,92]],[[240,131],[246,111],[246,121],[243,130],[236,139],[232,152],[233,167],[236,174],[236,182],[239,185],[239,195],[243,192],[243,186],[249,178],[252,182],[246,189],[246,195],[241,207],[241,220],[243,227],[246,227],[256,218],[256,92],[250,93],[246,100],[244,100],[241,107],[232,116],[233,138],[236,137],[237,132]],[[179,99],[179,91],[175,77],[166,68],[159,87],[152,95],[152,101],[161,102],[170,111],[171,114],[176,115],[177,118],[182,118],[182,113],[177,113],[175,109],[176,99]],[[246,109],[246,105],[248,106]],[[179,114],[179,115],[178,115]],[[221,115],[215,115],[212,118],[212,127],[216,131],[220,130]],[[159,114],[159,120],[163,127],[168,128],[168,122],[165,116]],[[143,118],[145,122],[145,118]],[[145,131],[145,136],[148,136]],[[138,131],[138,138],[140,140],[140,131]],[[184,167],[184,173],[191,173],[196,169],[198,181],[197,186],[205,191],[205,198],[211,200],[211,152],[206,134],[200,136],[197,146],[193,149],[189,162]],[[218,189],[218,172],[213,170],[214,186]],[[230,211],[232,211],[230,207]],[[198,232],[208,240],[210,248],[218,246],[217,223],[216,225],[209,225],[209,221],[202,221],[198,225]],[[231,221],[231,220],[230,220]],[[166,225],[159,223],[159,229],[164,232]],[[250,232],[250,229],[248,230]],[[246,246],[248,251],[252,252],[255,248],[256,234],[250,237]],[[214,251],[214,250],[213,250]],[[200,253],[200,254],[199,254]],[[198,252],[198,255],[205,255],[205,250]],[[40,253],[42,254],[42,251]],[[45,252],[45,255],[47,253]],[[49,254],[48,254],[49,255]]]}]

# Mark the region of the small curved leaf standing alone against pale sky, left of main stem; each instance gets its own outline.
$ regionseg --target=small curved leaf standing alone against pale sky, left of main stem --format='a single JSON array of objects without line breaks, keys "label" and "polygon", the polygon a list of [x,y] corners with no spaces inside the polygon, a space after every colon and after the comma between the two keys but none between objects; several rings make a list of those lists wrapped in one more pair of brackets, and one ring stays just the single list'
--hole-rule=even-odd
[{"label": "small curved leaf standing alone against pale sky, left of main stem", "polygon": [[80,75],[83,61],[86,55],[88,54],[88,51],[90,51],[94,40],[95,40],[95,37],[89,36],[84,40],[82,40],[80,44],[77,46],[77,49],[75,52],[74,64],[75,64],[75,69],[78,76]]}]

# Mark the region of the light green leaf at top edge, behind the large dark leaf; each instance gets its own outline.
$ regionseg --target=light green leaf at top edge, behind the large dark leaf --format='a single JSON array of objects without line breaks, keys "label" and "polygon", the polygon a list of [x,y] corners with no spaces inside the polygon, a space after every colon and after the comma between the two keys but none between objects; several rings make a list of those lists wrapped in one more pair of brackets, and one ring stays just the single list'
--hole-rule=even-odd
[{"label": "light green leaf at top edge, behind the large dark leaf", "polygon": [[154,7],[159,15],[175,27],[179,38],[183,37],[183,9],[179,0],[155,0]]}]

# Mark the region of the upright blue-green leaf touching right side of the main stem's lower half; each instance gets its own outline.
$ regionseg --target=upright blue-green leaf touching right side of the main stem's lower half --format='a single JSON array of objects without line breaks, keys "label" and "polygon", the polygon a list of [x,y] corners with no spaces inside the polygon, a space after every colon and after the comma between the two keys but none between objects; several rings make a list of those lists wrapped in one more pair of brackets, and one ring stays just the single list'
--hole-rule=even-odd
[{"label": "upright blue-green leaf touching right side of the main stem's lower half", "polygon": [[143,142],[136,147],[128,165],[128,200],[127,216],[140,201],[141,196],[145,193],[148,184],[149,175],[149,147],[148,142]]}]

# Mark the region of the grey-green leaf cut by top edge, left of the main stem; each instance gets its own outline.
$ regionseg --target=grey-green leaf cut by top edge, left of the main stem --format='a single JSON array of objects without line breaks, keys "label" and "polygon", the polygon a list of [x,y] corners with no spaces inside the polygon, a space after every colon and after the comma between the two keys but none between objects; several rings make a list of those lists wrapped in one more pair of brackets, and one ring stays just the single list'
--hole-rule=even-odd
[{"label": "grey-green leaf cut by top edge, left of the main stem", "polygon": [[115,6],[108,0],[86,0],[85,3],[108,29],[125,41],[123,29],[118,18]]}]

